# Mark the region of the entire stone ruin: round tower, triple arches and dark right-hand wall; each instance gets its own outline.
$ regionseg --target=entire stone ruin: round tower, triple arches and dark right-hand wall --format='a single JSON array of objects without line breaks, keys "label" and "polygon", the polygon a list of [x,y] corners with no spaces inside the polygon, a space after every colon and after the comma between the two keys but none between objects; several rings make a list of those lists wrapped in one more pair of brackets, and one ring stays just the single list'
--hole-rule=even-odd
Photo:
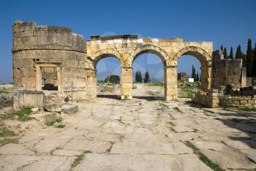
[{"label": "entire stone ruin: round tower, triple arches and dark right-hand wall", "polygon": [[[14,105],[16,108],[47,106],[48,91],[50,96],[61,94],[60,99],[67,96],[72,96],[73,101],[95,99],[96,65],[108,56],[118,58],[121,63],[121,99],[132,99],[132,62],[142,53],[154,53],[164,64],[165,100],[177,98],[177,61],[183,55],[194,56],[201,63],[202,91],[195,95],[193,102],[216,107],[222,101],[215,89],[230,84],[236,88],[246,86],[242,61],[221,59],[221,52],[213,51],[212,42],[137,35],[95,35],[85,41],[71,28],[16,21],[12,77],[15,88],[21,90],[17,90]],[[29,98],[37,100],[26,100]]]}]

